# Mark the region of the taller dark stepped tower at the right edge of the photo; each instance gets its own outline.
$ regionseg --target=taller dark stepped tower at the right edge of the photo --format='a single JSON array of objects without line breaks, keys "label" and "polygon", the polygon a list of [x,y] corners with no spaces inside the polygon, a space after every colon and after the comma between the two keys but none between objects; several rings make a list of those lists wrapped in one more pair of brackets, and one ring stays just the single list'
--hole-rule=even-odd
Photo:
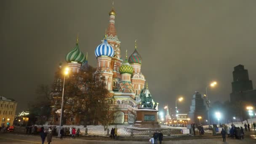
[{"label": "taller dark stepped tower at the right edge of the photo", "polygon": [[256,90],[253,90],[253,82],[249,80],[248,70],[239,64],[234,67],[232,93],[230,93],[230,101],[252,101],[256,103]]}]

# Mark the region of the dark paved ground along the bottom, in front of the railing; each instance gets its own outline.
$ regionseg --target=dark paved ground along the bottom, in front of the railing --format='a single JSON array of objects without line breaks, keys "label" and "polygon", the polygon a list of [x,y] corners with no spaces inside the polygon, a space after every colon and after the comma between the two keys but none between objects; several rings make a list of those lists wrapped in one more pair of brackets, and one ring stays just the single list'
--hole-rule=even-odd
[{"label": "dark paved ground along the bottom, in front of the railing", "polygon": [[[227,142],[222,142],[220,138],[213,139],[192,139],[179,141],[163,141],[162,144],[256,144],[256,139],[247,137],[243,140],[229,139]],[[42,144],[39,136],[27,136],[14,133],[0,133],[0,144]],[[45,144],[47,144],[45,142]],[[84,140],[66,138],[63,140],[53,138],[51,144],[149,144],[147,141],[103,141],[103,140]],[[159,144],[159,143],[158,143]]]}]

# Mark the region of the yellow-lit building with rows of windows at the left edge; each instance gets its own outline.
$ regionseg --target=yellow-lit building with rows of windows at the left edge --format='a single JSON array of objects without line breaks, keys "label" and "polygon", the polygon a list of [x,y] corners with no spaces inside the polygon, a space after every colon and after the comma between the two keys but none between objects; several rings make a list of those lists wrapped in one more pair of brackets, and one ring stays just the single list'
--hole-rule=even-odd
[{"label": "yellow-lit building with rows of windows at the left edge", "polygon": [[0,120],[1,126],[13,125],[17,102],[0,96]]}]

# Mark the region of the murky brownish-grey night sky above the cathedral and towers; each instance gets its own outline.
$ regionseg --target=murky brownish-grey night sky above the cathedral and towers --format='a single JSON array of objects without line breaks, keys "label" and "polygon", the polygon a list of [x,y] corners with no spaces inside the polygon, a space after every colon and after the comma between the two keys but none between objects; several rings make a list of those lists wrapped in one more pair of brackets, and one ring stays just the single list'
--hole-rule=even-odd
[{"label": "murky brownish-grey night sky above the cathedral and towers", "polygon": [[[255,0],[115,0],[115,27],[122,55],[142,56],[142,72],[160,108],[179,104],[187,112],[194,91],[209,90],[212,101],[226,101],[233,67],[245,65],[256,84]],[[51,84],[59,62],[75,46],[94,49],[108,26],[111,0],[1,0],[0,95],[18,101],[17,111],[35,98],[39,84]]]}]

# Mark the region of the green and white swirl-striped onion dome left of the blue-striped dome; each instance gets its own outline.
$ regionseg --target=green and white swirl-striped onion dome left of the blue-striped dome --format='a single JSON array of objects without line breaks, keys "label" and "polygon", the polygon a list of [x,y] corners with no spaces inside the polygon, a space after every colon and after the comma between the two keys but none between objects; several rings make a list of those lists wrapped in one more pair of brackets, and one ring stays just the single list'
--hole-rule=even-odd
[{"label": "green and white swirl-striped onion dome left of the blue-striped dome", "polygon": [[[77,40],[78,41],[78,40]],[[83,63],[85,62],[85,56],[83,55],[83,53],[80,51],[78,43],[76,43],[75,48],[70,51],[69,53],[67,53],[66,56],[66,61],[67,62],[78,62],[78,63]]]}]

